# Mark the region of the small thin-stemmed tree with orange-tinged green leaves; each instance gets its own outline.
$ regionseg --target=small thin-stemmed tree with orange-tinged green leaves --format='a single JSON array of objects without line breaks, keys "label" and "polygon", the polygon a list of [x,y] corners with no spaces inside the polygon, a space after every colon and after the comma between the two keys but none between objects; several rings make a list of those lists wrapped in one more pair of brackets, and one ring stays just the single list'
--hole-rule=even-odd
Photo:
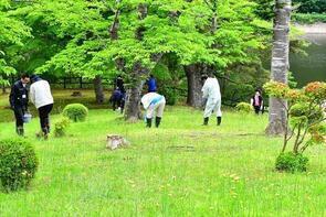
[{"label": "small thin-stemmed tree with orange-tinged green leaves", "polygon": [[[287,113],[287,126],[291,122],[291,133],[285,132],[283,152],[293,135],[293,153],[303,153],[313,144],[325,143],[325,108],[326,83],[309,83],[303,89],[291,89],[287,85],[270,82],[264,85],[265,91],[280,100]],[[287,100],[287,105],[281,99]],[[288,126],[290,127],[290,126]],[[306,137],[309,139],[306,140]]]}]

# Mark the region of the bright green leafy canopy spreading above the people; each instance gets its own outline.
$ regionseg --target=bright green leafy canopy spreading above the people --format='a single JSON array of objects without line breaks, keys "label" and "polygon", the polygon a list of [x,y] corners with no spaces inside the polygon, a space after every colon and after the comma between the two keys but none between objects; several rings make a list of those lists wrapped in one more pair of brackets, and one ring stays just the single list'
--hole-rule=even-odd
[{"label": "bright green leafy canopy spreading above the people", "polygon": [[[144,18],[139,6],[146,6]],[[15,53],[15,63],[39,73],[86,77],[115,74],[118,59],[126,72],[136,63],[153,69],[158,54],[173,54],[181,65],[248,64],[257,59],[255,51],[269,36],[256,7],[249,0],[35,1],[13,12],[34,35]],[[118,39],[113,40],[116,21]]]}]

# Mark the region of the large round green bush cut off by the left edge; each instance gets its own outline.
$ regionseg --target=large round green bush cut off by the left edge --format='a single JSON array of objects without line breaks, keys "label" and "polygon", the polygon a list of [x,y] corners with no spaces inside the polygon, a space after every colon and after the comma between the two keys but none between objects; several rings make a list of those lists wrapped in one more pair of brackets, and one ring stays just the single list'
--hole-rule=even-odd
[{"label": "large round green bush cut off by the left edge", "polygon": [[38,170],[34,148],[22,139],[0,141],[0,184],[4,191],[25,188]]}]

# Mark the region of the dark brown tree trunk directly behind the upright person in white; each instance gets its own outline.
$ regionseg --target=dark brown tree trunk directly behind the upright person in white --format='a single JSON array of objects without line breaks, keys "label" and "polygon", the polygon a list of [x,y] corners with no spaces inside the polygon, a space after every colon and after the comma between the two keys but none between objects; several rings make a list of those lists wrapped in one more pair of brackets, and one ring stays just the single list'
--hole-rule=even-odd
[{"label": "dark brown tree trunk directly behind the upright person in white", "polygon": [[188,82],[187,104],[194,108],[202,105],[202,82],[201,75],[206,73],[201,64],[193,64],[185,67]]}]

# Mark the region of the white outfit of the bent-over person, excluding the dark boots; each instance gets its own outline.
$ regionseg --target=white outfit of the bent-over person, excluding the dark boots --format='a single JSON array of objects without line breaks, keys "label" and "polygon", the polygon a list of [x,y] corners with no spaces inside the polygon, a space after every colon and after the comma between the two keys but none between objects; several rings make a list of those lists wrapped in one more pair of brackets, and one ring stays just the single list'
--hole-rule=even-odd
[{"label": "white outfit of the bent-over person, excluding the dark boots", "polygon": [[146,118],[151,119],[155,112],[156,117],[161,118],[166,106],[166,98],[157,93],[148,93],[141,98],[141,104],[146,109]]}]

